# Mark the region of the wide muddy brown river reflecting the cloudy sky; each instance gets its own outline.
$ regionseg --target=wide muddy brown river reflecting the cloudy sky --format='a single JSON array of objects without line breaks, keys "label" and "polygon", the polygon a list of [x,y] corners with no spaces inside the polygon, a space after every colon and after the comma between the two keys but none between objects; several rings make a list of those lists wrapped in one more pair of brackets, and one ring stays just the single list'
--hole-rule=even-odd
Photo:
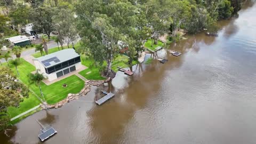
[{"label": "wide muddy brown river reflecting the cloudy sky", "polygon": [[[187,35],[112,82],[59,109],[39,111],[12,127],[1,143],[42,143],[39,122],[58,133],[44,143],[255,143],[256,6],[219,22],[218,37]],[[115,93],[102,106],[100,90]]]}]

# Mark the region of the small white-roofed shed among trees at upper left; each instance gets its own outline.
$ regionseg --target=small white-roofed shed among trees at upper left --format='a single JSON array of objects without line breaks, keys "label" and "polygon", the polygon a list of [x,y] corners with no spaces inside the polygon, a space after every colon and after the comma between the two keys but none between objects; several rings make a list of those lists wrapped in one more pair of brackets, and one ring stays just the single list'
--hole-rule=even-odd
[{"label": "small white-roofed shed among trees at upper left", "polygon": [[26,46],[30,45],[30,39],[27,36],[14,36],[6,38],[10,43],[17,45],[17,46]]}]

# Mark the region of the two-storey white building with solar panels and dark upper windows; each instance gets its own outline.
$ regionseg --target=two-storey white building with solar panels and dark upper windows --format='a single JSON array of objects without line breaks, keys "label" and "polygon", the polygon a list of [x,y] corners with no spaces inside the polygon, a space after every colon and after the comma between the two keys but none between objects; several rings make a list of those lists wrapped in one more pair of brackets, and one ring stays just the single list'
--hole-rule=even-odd
[{"label": "two-storey white building with solar panels and dark upper windows", "polygon": [[74,49],[65,49],[34,59],[36,69],[53,81],[58,77],[82,68],[80,55]]}]

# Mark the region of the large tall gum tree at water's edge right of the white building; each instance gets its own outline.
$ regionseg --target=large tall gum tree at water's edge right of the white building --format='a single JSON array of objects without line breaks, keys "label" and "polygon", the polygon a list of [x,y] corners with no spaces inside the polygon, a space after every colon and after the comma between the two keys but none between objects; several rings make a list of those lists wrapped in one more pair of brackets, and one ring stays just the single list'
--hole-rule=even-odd
[{"label": "large tall gum tree at water's edge right of the white building", "polygon": [[111,67],[119,53],[118,41],[125,41],[125,31],[135,23],[136,12],[135,6],[126,1],[86,0],[76,5],[79,35],[87,43],[95,61],[101,65],[103,61],[107,62],[107,77],[115,76]]}]

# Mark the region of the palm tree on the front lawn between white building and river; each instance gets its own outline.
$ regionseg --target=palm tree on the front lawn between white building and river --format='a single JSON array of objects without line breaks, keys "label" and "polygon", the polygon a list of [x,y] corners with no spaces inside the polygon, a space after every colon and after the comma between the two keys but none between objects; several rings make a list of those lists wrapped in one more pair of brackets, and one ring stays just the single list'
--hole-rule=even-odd
[{"label": "palm tree on the front lawn between white building and river", "polygon": [[45,102],[42,87],[40,85],[41,81],[43,81],[43,79],[45,79],[45,77],[42,74],[39,74],[38,69],[37,69],[35,74],[29,74],[29,79],[30,79],[30,84],[34,83],[39,87],[41,97],[43,98],[43,101]]}]

